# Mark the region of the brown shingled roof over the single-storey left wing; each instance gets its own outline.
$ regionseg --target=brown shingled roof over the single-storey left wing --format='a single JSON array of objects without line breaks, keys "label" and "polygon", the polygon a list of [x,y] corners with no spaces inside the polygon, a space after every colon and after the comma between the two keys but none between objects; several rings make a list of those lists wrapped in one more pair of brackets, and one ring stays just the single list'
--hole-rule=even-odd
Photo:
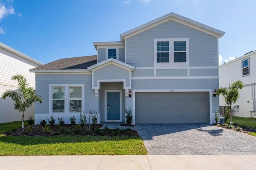
[{"label": "brown shingled roof over the single-storey left wing", "polygon": [[30,69],[30,72],[45,72],[46,70],[78,70],[87,69],[97,63],[97,55],[59,59],[42,66]]}]

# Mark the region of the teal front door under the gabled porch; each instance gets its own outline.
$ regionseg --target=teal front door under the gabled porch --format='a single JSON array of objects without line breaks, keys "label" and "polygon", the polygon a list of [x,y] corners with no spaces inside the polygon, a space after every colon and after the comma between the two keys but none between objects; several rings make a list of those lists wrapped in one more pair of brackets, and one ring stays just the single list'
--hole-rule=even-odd
[{"label": "teal front door under the gabled porch", "polygon": [[107,119],[120,119],[120,93],[107,92]]}]

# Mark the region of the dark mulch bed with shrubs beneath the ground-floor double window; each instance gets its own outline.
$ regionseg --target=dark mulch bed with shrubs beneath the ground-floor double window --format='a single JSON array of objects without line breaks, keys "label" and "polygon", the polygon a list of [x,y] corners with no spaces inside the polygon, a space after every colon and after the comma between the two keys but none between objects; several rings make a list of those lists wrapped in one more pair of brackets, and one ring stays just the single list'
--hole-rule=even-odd
[{"label": "dark mulch bed with shrubs beneath the ground-floor double window", "polygon": [[54,135],[90,135],[90,136],[130,136],[139,137],[138,131],[132,129],[100,129],[102,124],[91,124],[90,131],[87,131],[85,127],[81,125],[50,125],[50,131],[46,131],[42,125],[25,126],[16,129],[16,131],[8,131],[4,135],[9,136],[29,136],[29,137],[40,137],[40,136],[54,136]]}]

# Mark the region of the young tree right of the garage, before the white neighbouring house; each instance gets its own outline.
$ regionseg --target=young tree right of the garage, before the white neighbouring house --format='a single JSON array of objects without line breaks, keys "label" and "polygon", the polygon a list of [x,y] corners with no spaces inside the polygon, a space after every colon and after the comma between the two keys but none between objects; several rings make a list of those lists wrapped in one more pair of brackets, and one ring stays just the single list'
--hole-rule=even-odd
[{"label": "young tree right of the garage, before the white neighbouring house", "polygon": [[[229,89],[226,87],[221,87],[217,90],[217,95],[220,96],[220,94],[223,95],[225,99],[226,106],[230,106],[236,103],[236,100],[239,98],[238,90],[242,89],[244,86],[243,82],[240,80],[237,80],[236,82],[232,83]],[[232,122],[232,110],[230,109],[230,123]]]}]

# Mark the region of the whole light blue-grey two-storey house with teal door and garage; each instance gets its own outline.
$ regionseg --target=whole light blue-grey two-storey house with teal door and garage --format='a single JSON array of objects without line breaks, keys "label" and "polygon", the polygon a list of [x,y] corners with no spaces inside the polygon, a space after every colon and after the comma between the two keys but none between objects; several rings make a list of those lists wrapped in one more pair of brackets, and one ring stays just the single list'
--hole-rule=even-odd
[{"label": "whole light blue-grey two-storey house with teal door and garage", "polygon": [[218,39],[224,32],[174,13],[121,34],[117,42],[94,42],[96,56],[60,59],[33,68],[35,121],[53,116],[66,123],[80,111],[100,121],[214,123],[219,99]]}]

